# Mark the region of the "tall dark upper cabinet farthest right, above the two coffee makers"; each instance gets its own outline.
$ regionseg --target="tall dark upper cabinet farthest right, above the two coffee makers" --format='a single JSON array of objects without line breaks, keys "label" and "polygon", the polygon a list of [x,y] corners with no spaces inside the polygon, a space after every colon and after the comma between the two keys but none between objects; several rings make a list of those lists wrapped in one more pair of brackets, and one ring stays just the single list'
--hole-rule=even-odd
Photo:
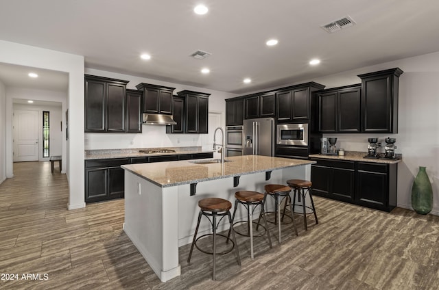
[{"label": "tall dark upper cabinet farthest right, above the two coffee makers", "polygon": [[361,78],[361,131],[398,133],[398,86],[400,68],[381,70]]}]

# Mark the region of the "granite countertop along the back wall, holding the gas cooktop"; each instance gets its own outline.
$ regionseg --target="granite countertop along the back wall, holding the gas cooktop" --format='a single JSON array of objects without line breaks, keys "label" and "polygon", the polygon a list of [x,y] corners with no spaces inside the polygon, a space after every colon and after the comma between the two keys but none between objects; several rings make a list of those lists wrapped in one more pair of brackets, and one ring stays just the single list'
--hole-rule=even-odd
[{"label": "granite countertop along the back wall, holding the gas cooktop", "polygon": [[[175,150],[173,153],[140,153],[139,150]],[[182,155],[196,153],[212,153],[213,150],[202,150],[201,146],[192,147],[161,147],[161,148],[130,148],[130,149],[99,149],[85,150],[84,159],[110,159],[110,158],[127,158],[127,157],[148,157],[159,155]]]}]

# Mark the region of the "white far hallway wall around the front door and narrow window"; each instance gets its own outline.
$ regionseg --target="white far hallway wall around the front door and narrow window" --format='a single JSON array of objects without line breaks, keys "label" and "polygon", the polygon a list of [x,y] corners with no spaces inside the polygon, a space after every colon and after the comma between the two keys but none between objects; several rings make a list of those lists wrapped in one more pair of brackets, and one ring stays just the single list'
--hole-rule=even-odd
[{"label": "white far hallway wall around the front door and narrow window", "polygon": [[63,140],[65,142],[65,138],[64,139],[62,138],[61,124],[60,124],[62,122],[62,114],[61,114],[60,105],[50,106],[50,105],[14,104],[13,109],[38,111],[38,139],[39,139],[38,160],[39,161],[49,160],[49,157],[43,157],[43,145],[44,145],[43,144],[43,111],[49,111],[49,155],[62,155],[62,142]]}]

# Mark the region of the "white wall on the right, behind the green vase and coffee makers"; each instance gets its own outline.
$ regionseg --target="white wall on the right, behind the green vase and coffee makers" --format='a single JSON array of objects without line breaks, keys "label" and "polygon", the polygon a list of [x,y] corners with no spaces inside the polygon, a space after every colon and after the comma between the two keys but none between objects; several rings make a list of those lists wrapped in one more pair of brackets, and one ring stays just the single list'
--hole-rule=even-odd
[{"label": "white wall on the right, behind the green vase and coffee makers", "polygon": [[383,145],[385,137],[396,138],[396,153],[403,154],[403,161],[398,166],[398,207],[412,208],[412,183],[418,167],[425,166],[434,191],[432,213],[439,215],[439,52],[359,68],[312,81],[334,88],[361,83],[361,79],[357,77],[359,74],[396,67],[404,71],[399,77],[399,133],[327,134],[324,137],[337,137],[338,148],[355,151],[367,151],[368,137],[379,137]]}]

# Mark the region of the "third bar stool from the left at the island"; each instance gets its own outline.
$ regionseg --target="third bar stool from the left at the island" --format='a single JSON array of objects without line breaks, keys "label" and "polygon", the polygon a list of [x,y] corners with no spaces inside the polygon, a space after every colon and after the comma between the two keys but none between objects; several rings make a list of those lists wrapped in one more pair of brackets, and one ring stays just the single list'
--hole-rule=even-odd
[{"label": "third bar stool from the left at the island", "polygon": [[[292,188],[289,186],[281,185],[281,184],[268,184],[264,186],[265,194],[264,194],[264,205],[267,196],[272,196],[274,198],[274,224],[278,225],[278,241],[281,243],[281,203],[286,198],[285,202],[288,201],[289,193],[292,191]],[[293,207],[291,202],[289,203],[290,211],[293,213]],[[285,211],[284,211],[285,214]],[[260,218],[260,217],[259,217]],[[291,219],[293,221],[294,233],[297,233],[296,222],[294,222],[294,215],[291,215]],[[259,224],[259,220],[258,220]]]}]

